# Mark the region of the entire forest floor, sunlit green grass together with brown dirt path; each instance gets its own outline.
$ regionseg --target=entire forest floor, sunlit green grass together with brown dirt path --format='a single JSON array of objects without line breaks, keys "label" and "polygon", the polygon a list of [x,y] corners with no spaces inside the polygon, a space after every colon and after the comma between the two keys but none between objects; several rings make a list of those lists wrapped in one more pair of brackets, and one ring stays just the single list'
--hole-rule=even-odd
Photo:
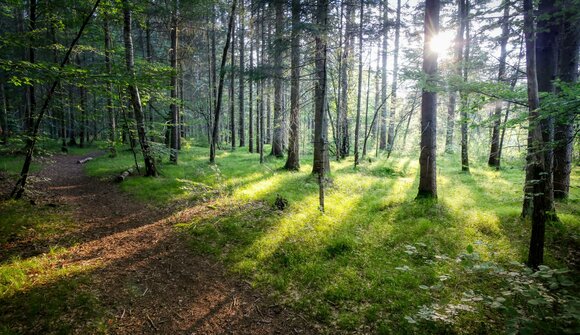
[{"label": "entire forest floor, sunlit green grass together with brown dirt path", "polygon": [[[310,157],[299,172],[287,172],[283,160],[260,165],[242,149],[220,152],[215,166],[207,154],[187,147],[179,165],[160,166],[159,178],[134,176],[120,186],[111,180],[133,165],[129,151],[88,162],[92,178],[73,164],[76,156],[52,157],[59,173],[65,162],[87,186],[62,204],[0,202],[0,244],[14,251],[3,247],[0,256],[0,333],[83,327],[239,333],[236,327],[251,332],[243,327],[253,323],[264,333],[277,327],[287,327],[283,333],[579,331],[578,167],[570,199],[557,204],[560,222],[547,228],[547,266],[531,273],[521,265],[530,231],[519,217],[521,163],[499,172],[475,163],[464,174],[457,157],[441,156],[433,203],[414,200],[417,157],[373,159],[357,170],[352,159],[332,162],[321,215]],[[2,157],[0,169],[14,173],[17,162]],[[36,167],[40,176],[46,170]],[[35,182],[40,193],[33,197],[43,197],[43,183],[54,186],[52,177]],[[287,199],[287,208],[275,208],[277,196]],[[91,226],[100,230],[87,232]],[[28,246],[15,247],[22,241]],[[36,255],[24,252],[31,246]],[[165,273],[164,262],[175,273]],[[172,278],[187,285],[175,286]],[[221,318],[192,324],[195,317],[172,315],[203,315],[195,311],[208,304],[196,291],[204,287],[206,298],[218,297],[217,310],[225,309],[217,313]],[[189,300],[168,303],[180,294]]]}]

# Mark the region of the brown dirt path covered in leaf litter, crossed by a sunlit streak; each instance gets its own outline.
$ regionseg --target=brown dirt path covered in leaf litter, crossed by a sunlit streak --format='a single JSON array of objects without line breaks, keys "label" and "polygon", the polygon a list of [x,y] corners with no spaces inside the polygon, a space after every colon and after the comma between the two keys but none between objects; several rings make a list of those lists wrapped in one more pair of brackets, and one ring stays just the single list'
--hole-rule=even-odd
[{"label": "brown dirt path covered in leaf litter, crossed by a sunlit streak", "polygon": [[[192,254],[172,213],[144,206],[112,182],[85,176],[79,157],[55,156],[40,173],[49,200],[79,223],[64,266],[94,266],[94,291],[116,334],[312,334],[221,264]],[[160,190],[162,191],[162,190]],[[188,209],[189,215],[203,205]]]}]

